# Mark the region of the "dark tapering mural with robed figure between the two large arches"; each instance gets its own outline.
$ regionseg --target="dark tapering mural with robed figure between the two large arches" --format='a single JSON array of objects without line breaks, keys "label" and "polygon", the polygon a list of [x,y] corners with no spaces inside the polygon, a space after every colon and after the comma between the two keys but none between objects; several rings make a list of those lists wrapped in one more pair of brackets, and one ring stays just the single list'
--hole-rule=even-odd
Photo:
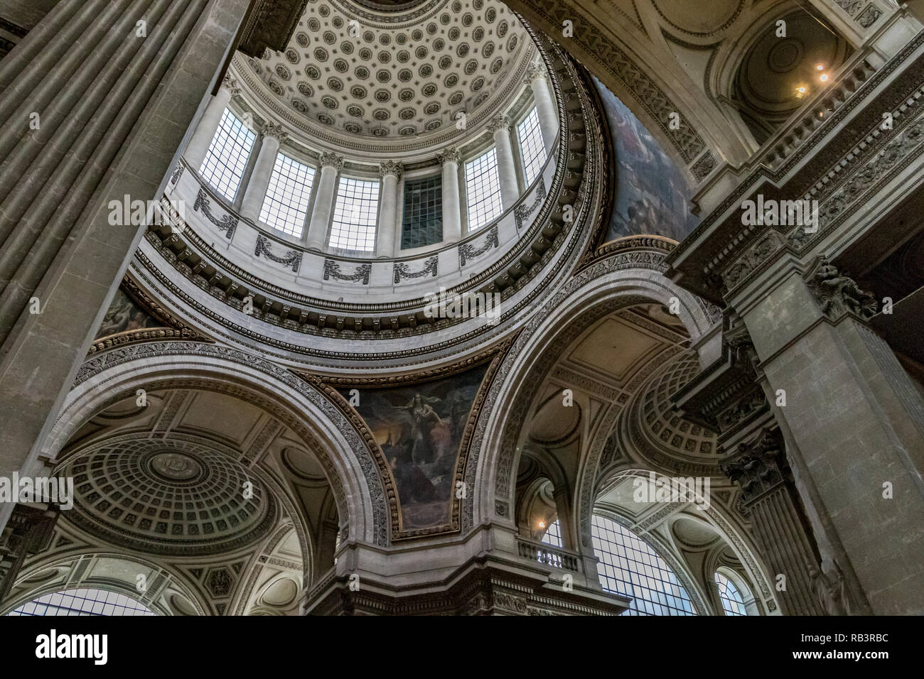
[{"label": "dark tapering mural with robed figure between the two large arches", "polygon": [[[433,382],[361,390],[355,407],[392,469],[403,531],[449,523],[462,434],[488,365]],[[349,399],[349,390],[342,394]]]}]

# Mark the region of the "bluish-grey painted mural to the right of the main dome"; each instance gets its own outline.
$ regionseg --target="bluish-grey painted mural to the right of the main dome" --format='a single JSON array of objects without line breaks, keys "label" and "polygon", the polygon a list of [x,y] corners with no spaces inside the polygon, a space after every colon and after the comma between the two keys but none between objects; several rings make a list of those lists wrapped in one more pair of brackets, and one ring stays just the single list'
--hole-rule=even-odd
[{"label": "bluish-grey painted mural to the right of the main dome", "polygon": [[626,104],[599,80],[594,84],[613,134],[616,159],[613,216],[602,242],[640,234],[683,240],[699,223],[688,209],[693,193],[686,176]]}]

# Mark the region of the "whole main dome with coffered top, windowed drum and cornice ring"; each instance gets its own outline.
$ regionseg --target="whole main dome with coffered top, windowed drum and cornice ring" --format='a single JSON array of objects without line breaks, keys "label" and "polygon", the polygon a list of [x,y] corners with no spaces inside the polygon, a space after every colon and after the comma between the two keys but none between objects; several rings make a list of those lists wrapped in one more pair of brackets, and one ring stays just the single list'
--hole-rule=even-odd
[{"label": "whole main dome with coffered top, windowed drum and cornice ring", "polygon": [[603,151],[570,58],[494,0],[377,5],[310,2],[285,51],[235,55],[169,177],[133,270],[207,333],[321,369],[457,360],[586,247]]}]

